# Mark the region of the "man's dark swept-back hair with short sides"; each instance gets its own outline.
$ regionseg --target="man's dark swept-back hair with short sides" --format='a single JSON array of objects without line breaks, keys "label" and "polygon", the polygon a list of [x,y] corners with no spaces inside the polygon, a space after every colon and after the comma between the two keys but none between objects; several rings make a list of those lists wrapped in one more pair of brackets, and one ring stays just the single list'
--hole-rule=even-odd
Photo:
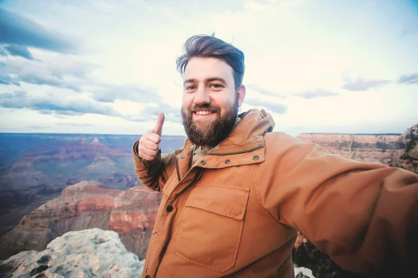
[{"label": "man's dark swept-back hair with short sides", "polygon": [[212,35],[194,35],[185,42],[185,54],[176,59],[177,70],[180,74],[185,73],[189,60],[193,57],[212,57],[224,60],[233,70],[235,90],[242,85],[244,76],[244,53],[232,44],[224,42]]}]

